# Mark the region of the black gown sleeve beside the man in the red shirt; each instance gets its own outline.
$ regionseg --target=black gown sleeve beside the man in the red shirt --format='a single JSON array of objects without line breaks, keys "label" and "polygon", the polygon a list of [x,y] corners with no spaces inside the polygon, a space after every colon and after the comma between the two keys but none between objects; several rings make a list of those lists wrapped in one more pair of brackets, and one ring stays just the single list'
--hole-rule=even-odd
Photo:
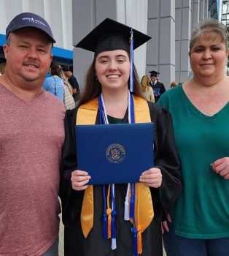
[{"label": "black gown sleeve beside the man in the red shirt", "polygon": [[79,214],[82,206],[83,191],[75,191],[71,187],[71,172],[77,170],[77,149],[74,126],[77,109],[67,110],[65,117],[65,140],[61,154],[61,184],[60,197],[62,205],[62,220],[69,225]]}]

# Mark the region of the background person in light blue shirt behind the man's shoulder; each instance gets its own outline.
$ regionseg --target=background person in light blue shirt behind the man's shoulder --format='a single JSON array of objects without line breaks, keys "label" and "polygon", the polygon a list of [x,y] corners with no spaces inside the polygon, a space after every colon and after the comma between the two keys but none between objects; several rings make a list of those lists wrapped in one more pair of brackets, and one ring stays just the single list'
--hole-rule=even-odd
[{"label": "background person in light blue shirt behind the man's shoulder", "polygon": [[50,74],[49,78],[45,78],[44,83],[42,85],[45,91],[50,92],[50,94],[58,97],[61,102],[63,102],[63,91],[64,91],[64,83],[60,78],[60,69],[57,63],[52,62],[50,66]]}]

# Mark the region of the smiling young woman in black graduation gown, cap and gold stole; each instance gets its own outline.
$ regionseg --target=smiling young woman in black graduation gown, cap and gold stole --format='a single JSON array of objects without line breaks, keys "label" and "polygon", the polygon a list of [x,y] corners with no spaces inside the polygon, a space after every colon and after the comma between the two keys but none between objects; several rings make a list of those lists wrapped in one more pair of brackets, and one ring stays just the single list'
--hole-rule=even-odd
[{"label": "smiling young woman in black graduation gown, cap and gold stole", "polygon": [[[95,56],[79,107],[66,112],[60,188],[65,256],[162,256],[160,222],[167,219],[182,192],[171,115],[141,98],[136,71],[131,67],[131,48],[150,37],[133,29],[134,45],[133,41],[130,45],[130,32],[128,26],[107,18],[77,45]],[[155,124],[155,166],[142,170],[137,184],[88,186],[90,170],[77,170],[74,126],[149,121]],[[130,187],[132,192],[139,191],[132,216],[128,215],[133,203],[128,196]],[[125,220],[129,217],[135,221]]]}]

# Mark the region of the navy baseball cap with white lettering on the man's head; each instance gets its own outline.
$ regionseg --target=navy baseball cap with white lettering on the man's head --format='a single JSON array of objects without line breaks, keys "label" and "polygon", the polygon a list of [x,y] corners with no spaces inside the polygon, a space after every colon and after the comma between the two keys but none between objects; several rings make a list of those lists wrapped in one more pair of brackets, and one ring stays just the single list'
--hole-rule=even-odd
[{"label": "navy baseball cap with white lettering on the man's head", "polygon": [[53,33],[47,21],[39,15],[31,12],[23,12],[13,18],[7,26],[6,37],[9,37],[9,33],[18,29],[26,28],[28,26],[42,30],[45,34],[47,34],[51,42],[55,42],[55,39],[53,38]]}]

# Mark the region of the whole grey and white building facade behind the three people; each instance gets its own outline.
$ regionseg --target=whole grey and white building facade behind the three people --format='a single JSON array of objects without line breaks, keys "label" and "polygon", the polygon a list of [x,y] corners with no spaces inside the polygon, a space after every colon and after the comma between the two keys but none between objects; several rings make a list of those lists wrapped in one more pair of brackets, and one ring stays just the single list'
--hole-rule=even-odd
[{"label": "whole grey and white building facade behind the three people", "polygon": [[[223,1],[222,22],[229,18],[229,1]],[[105,18],[112,18],[150,35],[147,44],[134,52],[139,78],[160,72],[166,88],[173,80],[184,82],[190,74],[190,34],[199,20],[219,18],[220,0],[0,0],[0,58],[5,29],[20,12],[42,16],[57,41],[54,60],[74,64],[74,75],[82,87],[93,53],[74,48]],[[226,16],[225,16],[226,15]],[[72,62],[73,61],[73,62]]]}]

